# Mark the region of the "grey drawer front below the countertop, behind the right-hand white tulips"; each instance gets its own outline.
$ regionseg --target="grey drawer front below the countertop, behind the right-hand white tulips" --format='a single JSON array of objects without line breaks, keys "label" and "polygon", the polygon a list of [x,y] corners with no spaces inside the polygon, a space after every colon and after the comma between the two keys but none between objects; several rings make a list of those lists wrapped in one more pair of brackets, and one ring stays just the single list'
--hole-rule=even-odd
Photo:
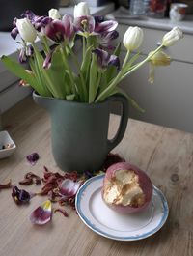
[{"label": "grey drawer front below the countertop, behind the right-hand white tulips", "polygon": [[[120,33],[119,39],[122,40],[124,33],[128,25],[119,25],[118,31]],[[167,31],[155,30],[150,28],[143,28],[144,42],[140,48],[140,51],[144,54],[148,54],[150,51],[157,47],[157,42],[161,42],[163,36]],[[175,45],[166,48],[166,53],[171,55],[172,59],[193,63],[193,35],[184,34],[182,40]],[[123,50],[125,50],[123,45]]]}]

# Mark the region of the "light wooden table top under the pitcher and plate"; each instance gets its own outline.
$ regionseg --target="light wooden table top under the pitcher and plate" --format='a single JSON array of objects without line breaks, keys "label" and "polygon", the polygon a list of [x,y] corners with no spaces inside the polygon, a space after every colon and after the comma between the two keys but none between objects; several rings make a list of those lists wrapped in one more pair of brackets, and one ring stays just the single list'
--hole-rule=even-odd
[{"label": "light wooden table top under the pitcher and plate", "polygon": [[[118,117],[111,118],[111,136]],[[26,172],[42,176],[43,165],[58,171],[50,150],[50,123],[46,112],[27,98],[8,111],[4,124],[17,145],[16,152],[0,160],[0,183],[12,179],[18,185]],[[38,152],[41,159],[30,166],[25,156]],[[11,189],[0,191],[1,256],[192,256],[193,255],[193,134],[129,120],[123,141],[114,150],[148,172],[152,183],[165,194],[170,215],[152,237],[137,242],[116,242],[91,231],[68,209],[51,223],[34,226],[30,213],[45,197],[17,206]],[[25,188],[24,188],[25,189]],[[26,188],[37,191],[36,185]]]}]

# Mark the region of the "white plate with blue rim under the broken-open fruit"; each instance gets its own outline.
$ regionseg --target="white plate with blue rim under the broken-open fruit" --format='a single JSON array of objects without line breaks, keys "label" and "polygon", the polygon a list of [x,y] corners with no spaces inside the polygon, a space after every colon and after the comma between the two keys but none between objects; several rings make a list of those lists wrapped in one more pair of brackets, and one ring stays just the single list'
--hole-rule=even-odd
[{"label": "white plate with blue rim under the broken-open fruit", "polygon": [[89,179],[76,195],[76,211],[97,234],[119,241],[145,239],[165,223],[169,209],[162,192],[153,186],[152,202],[142,213],[121,214],[109,209],[101,198],[104,175]]}]

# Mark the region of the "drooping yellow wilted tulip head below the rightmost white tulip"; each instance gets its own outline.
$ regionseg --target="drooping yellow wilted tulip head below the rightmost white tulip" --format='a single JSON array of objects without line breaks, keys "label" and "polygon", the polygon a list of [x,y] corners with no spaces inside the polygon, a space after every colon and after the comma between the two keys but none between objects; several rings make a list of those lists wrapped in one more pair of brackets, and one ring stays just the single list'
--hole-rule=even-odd
[{"label": "drooping yellow wilted tulip head below the rightmost white tulip", "polygon": [[[151,56],[153,51],[149,53]],[[158,51],[150,58],[152,65],[154,66],[167,66],[171,63],[171,57],[163,51]]]}]

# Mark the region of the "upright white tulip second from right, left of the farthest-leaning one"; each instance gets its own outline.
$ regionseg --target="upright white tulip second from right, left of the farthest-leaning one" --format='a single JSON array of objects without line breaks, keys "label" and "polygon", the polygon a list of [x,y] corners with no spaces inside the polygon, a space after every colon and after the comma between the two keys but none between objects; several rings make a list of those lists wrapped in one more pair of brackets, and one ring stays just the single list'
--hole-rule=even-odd
[{"label": "upright white tulip second from right, left of the farthest-leaning one", "polygon": [[139,27],[129,27],[124,34],[124,47],[129,50],[139,48],[144,39],[143,30]]}]

